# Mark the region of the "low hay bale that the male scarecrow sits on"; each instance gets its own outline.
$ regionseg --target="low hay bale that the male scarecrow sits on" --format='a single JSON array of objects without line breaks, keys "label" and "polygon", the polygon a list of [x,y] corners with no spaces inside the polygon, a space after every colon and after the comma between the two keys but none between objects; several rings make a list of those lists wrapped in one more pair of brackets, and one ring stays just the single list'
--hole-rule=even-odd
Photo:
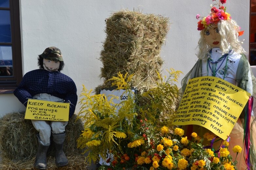
[{"label": "low hay bale that the male scarecrow sits on", "polygon": [[[65,169],[86,170],[87,163],[77,149],[76,140],[83,130],[83,124],[74,114],[66,126],[64,152],[69,160]],[[9,113],[0,119],[1,170],[29,170],[33,167],[37,150],[36,130],[30,120],[24,119],[24,112]],[[48,150],[48,170],[57,169],[54,160],[54,146]]]}]

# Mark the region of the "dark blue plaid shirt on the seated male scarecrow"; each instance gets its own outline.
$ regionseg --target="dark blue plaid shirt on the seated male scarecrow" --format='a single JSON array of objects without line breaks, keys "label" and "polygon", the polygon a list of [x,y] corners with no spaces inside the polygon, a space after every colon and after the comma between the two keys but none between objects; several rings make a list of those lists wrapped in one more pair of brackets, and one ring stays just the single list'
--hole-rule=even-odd
[{"label": "dark blue plaid shirt on the seated male scarecrow", "polygon": [[74,114],[77,103],[76,85],[65,74],[45,69],[32,70],[23,76],[17,89],[13,92],[19,101],[27,107],[28,99],[40,93],[47,93],[70,102],[69,117]]}]

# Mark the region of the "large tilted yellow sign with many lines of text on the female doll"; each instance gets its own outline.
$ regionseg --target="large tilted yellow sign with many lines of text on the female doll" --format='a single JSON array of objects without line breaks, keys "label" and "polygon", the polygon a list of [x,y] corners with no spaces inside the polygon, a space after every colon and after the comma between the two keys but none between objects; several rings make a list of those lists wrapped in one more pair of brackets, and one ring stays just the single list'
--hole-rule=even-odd
[{"label": "large tilted yellow sign with many lines of text on the female doll", "polygon": [[200,125],[226,140],[250,94],[217,77],[189,79],[174,125]]}]

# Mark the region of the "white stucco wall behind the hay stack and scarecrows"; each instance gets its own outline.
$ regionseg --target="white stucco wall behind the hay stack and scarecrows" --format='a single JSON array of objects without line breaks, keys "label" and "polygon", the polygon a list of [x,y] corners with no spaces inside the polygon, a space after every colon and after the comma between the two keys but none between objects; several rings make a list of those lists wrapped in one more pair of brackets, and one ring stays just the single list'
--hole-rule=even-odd
[{"label": "white stucco wall behind the hay stack and scarecrows", "polygon": [[[241,38],[245,39],[246,51],[249,2],[227,0],[225,4],[227,12],[245,30]],[[195,16],[198,13],[207,16],[211,3],[212,0],[20,0],[23,75],[37,69],[38,54],[49,46],[56,46],[62,51],[66,64],[63,73],[75,81],[78,95],[82,84],[94,89],[102,83],[98,58],[106,36],[104,20],[121,9],[169,17],[170,30],[161,52],[165,60],[163,70],[174,68],[186,74],[197,59],[199,31]],[[0,94],[0,107],[0,116],[25,109],[13,94]]]}]

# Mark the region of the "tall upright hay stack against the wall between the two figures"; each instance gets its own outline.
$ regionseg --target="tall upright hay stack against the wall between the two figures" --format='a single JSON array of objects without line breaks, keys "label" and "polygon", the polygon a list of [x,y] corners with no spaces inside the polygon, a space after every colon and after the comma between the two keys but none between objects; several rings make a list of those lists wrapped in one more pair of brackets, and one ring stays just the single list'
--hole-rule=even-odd
[{"label": "tall upright hay stack against the wall between the two figures", "polygon": [[121,10],[106,19],[106,40],[101,51],[101,78],[96,88],[111,88],[106,82],[119,72],[134,74],[131,86],[140,93],[155,86],[163,60],[161,46],[168,31],[168,18],[153,14]]}]

